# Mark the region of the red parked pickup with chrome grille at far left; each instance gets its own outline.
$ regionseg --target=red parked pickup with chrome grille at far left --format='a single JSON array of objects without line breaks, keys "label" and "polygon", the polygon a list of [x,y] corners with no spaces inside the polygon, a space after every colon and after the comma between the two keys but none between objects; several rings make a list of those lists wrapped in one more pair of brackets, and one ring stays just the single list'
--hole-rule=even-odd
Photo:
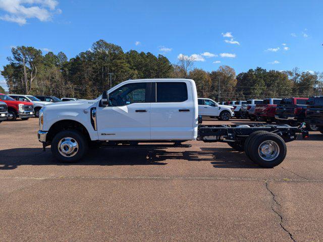
[{"label": "red parked pickup with chrome grille at far left", "polygon": [[34,116],[34,105],[31,102],[16,101],[3,93],[0,93],[0,101],[7,104],[10,121],[15,121],[17,117],[25,120]]}]

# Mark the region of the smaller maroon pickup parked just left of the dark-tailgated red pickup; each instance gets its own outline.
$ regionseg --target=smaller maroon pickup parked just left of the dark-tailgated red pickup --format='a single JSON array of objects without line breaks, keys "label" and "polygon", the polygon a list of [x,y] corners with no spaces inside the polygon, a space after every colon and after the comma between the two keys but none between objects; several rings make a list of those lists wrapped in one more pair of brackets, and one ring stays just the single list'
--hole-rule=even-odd
[{"label": "smaller maroon pickup parked just left of the dark-tailgated red pickup", "polygon": [[262,104],[256,105],[255,115],[257,120],[272,123],[275,121],[276,107],[281,102],[281,98],[263,99]]}]

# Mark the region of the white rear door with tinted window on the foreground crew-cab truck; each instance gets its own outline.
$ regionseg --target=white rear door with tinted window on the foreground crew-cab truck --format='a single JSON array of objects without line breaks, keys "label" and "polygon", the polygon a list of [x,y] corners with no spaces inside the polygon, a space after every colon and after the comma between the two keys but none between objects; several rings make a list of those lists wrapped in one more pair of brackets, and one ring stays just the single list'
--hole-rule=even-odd
[{"label": "white rear door with tinted window on the foreground crew-cab truck", "polygon": [[150,131],[152,140],[191,140],[195,108],[189,81],[152,83]]}]

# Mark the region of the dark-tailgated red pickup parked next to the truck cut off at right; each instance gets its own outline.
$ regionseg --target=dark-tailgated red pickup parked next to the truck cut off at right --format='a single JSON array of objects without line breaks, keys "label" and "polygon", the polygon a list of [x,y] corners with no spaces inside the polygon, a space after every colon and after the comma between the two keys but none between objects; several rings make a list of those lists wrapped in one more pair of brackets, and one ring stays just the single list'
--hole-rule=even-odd
[{"label": "dark-tailgated red pickup parked next to the truck cut off at right", "polygon": [[308,98],[284,98],[277,105],[275,118],[280,123],[297,126],[304,122]]}]

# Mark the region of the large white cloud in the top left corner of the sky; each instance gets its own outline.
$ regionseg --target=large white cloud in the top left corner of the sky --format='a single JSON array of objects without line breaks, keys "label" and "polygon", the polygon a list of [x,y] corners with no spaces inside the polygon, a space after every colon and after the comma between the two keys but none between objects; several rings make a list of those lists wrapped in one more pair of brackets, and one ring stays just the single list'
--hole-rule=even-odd
[{"label": "large white cloud in the top left corner of the sky", "polygon": [[7,14],[0,20],[14,22],[19,25],[27,23],[27,19],[37,18],[40,21],[50,21],[53,14],[60,14],[56,0],[0,0],[0,9]]}]

